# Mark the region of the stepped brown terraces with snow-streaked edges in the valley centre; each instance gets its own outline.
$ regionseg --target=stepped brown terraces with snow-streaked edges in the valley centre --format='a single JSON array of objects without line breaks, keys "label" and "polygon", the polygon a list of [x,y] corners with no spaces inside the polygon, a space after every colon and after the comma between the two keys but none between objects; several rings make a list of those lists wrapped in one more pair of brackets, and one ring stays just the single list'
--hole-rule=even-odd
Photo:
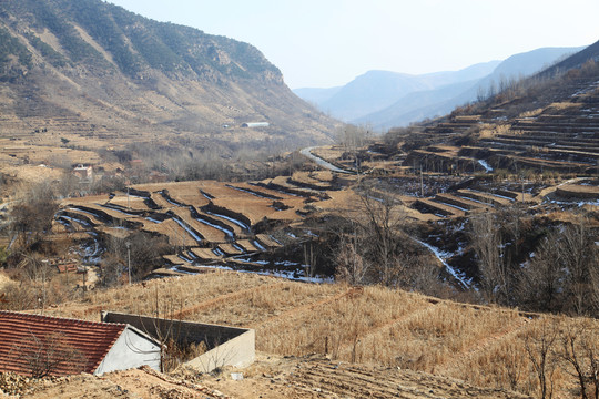
[{"label": "stepped brown terraces with snow-streaked edges in the valley centre", "polygon": [[[57,214],[54,232],[126,239],[141,231],[165,236],[177,250],[164,258],[171,268],[186,266],[189,272],[199,264],[261,268],[264,265],[248,256],[280,247],[272,234],[301,222],[309,213],[308,204],[327,197],[324,188],[301,185],[318,182],[329,188],[333,175],[316,172],[313,176],[300,174],[295,181],[276,178],[276,183],[144,184],[105,196],[70,198]],[[300,241],[304,234],[296,229],[294,236]]]}]

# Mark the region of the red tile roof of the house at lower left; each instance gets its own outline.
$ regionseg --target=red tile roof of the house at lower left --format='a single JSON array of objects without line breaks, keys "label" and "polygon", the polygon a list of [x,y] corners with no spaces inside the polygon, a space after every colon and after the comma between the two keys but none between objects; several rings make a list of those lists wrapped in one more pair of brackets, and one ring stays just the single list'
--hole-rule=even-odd
[{"label": "red tile roof of the house at lower left", "polygon": [[47,368],[52,376],[93,374],[125,328],[124,324],[0,311],[0,371],[31,376],[41,364],[51,365]]}]

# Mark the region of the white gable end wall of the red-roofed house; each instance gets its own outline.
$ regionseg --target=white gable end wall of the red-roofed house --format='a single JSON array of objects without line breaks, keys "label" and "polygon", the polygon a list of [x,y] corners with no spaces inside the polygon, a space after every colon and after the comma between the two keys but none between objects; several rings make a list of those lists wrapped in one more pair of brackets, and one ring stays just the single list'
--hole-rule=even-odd
[{"label": "white gable end wall of the red-roofed house", "polygon": [[128,326],[98,366],[94,375],[101,376],[104,372],[126,370],[143,365],[160,371],[160,342]]}]

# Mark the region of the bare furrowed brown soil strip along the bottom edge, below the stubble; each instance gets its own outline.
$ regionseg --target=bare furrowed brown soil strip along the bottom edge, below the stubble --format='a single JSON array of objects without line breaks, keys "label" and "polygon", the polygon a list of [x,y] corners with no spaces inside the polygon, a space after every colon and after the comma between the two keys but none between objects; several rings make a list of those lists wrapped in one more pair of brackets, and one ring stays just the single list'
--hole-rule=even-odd
[{"label": "bare furrowed brown soil strip along the bottom edge, below the stubble", "polygon": [[527,398],[425,372],[333,361],[322,356],[258,354],[248,368],[220,371],[197,375],[179,369],[163,376],[142,368],[102,377],[80,375],[40,383],[23,398]]}]

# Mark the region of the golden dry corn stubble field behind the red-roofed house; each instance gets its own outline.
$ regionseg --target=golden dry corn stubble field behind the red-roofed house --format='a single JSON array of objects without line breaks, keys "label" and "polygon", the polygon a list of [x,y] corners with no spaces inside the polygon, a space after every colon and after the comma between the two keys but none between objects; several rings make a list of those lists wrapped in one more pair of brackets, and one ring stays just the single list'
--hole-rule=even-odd
[{"label": "golden dry corn stubble field behind the red-roofed house", "polygon": [[[95,320],[101,309],[254,328],[256,349],[268,354],[328,355],[526,395],[538,389],[532,360],[549,339],[556,350],[572,336],[577,346],[597,350],[599,345],[597,320],[463,305],[379,286],[297,284],[235,272],[93,291],[80,304],[51,311]],[[565,359],[555,360],[547,372],[556,397],[573,395],[576,379]]]}]

